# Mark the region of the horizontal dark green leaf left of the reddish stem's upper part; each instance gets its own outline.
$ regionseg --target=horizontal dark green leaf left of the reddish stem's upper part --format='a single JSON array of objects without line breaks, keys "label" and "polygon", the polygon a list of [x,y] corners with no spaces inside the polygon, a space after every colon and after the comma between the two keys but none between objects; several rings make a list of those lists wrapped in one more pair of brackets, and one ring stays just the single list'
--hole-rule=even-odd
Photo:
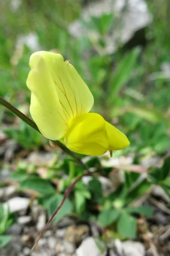
[{"label": "horizontal dark green leaf left of the reddish stem's upper part", "polygon": [[20,189],[32,189],[44,195],[50,195],[55,192],[51,183],[40,177],[29,177],[20,183]]}]

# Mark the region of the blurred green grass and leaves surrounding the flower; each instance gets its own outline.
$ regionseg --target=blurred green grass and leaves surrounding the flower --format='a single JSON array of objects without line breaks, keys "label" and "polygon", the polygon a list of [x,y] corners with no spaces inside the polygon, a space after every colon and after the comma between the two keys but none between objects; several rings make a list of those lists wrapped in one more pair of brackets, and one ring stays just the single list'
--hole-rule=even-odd
[{"label": "blurred green grass and leaves surrounding the flower", "polygon": [[[147,2],[153,21],[145,31],[146,45],[128,50],[119,45],[117,51],[109,55],[105,51],[105,37],[113,29],[113,14],[91,17],[87,22],[80,17],[82,7],[79,0],[26,0],[21,1],[17,11],[9,8],[11,1],[3,1],[0,15],[0,96],[17,108],[24,108],[29,116],[30,92],[26,78],[29,56],[34,50],[26,41],[22,43],[21,38],[34,32],[40,49],[53,49],[65,59],[70,59],[94,95],[93,110],[129,138],[131,145],[124,151],[115,152],[115,156],[133,152],[133,164],[139,165],[141,159],[150,154],[164,156],[170,146],[170,76],[162,70],[162,65],[170,64],[169,1]],[[72,37],[68,25],[77,18],[86,29],[99,33],[99,38],[94,40],[91,33]],[[2,107],[0,122],[4,133],[24,149],[34,150],[46,142],[40,134]],[[61,202],[71,180],[83,172],[73,161],[70,164],[67,157],[64,160],[59,160],[59,157],[60,154],[48,166],[46,179],[37,174],[37,166],[30,167],[26,163],[18,166],[11,175],[21,191],[31,189],[35,192],[49,215]],[[161,186],[169,195],[169,159],[165,159],[160,169],[150,168],[144,177],[140,173],[125,172],[125,181],[107,196],[96,177],[87,185],[79,181],[55,221],[72,212],[83,220],[96,220],[103,227],[117,230],[122,238],[135,238],[134,213],[150,217],[153,210],[149,206],[135,208],[129,204],[144,195],[153,184]],[[112,168],[102,166],[96,157],[87,164],[89,167],[98,166],[106,177],[112,171]],[[28,172],[30,168],[32,172]],[[63,179],[63,175],[68,179]],[[128,223],[126,227],[125,223]],[[6,244],[1,242],[2,239],[0,236],[0,244]]]}]

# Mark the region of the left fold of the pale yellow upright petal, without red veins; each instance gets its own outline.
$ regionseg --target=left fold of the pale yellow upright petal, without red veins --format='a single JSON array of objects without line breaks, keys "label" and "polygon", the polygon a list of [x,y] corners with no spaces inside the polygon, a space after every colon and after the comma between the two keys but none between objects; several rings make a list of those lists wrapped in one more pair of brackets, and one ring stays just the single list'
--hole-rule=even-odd
[{"label": "left fold of the pale yellow upright petal, without red veins", "polygon": [[68,131],[68,121],[60,107],[57,90],[43,58],[32,59],[31,66],[27,79],[31,116],[46,138],[58,140]]}]

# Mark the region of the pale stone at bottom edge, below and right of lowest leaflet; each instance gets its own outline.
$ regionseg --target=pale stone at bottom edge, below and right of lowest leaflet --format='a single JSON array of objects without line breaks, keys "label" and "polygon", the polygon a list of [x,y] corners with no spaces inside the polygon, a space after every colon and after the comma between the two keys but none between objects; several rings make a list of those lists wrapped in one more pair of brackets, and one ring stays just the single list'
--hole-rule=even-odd
[{"label": "pale stone at bottom edge, below and right of lowest leaflet", "polygon": [[122,242],[123,250],[126,256],[144,256],[145,249],[144,245],[135,241],[125,241]]}]

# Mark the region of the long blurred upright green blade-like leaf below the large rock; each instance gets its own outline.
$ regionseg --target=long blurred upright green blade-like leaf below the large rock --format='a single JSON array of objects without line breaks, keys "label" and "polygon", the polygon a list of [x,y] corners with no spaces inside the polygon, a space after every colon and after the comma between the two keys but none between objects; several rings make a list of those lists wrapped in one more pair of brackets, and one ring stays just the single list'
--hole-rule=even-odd
[{"label": "long blurred upright green blade-like leaf below the large rock", "polygon": [[140,48],[136,47],[131,52],[128,52],[119,62],[111,78],[111,93],[108,98],[109,102],[112,102],[113,99],[116,98],[122,86],[130,79],[131,72],[135,67],[140,51]]}]

